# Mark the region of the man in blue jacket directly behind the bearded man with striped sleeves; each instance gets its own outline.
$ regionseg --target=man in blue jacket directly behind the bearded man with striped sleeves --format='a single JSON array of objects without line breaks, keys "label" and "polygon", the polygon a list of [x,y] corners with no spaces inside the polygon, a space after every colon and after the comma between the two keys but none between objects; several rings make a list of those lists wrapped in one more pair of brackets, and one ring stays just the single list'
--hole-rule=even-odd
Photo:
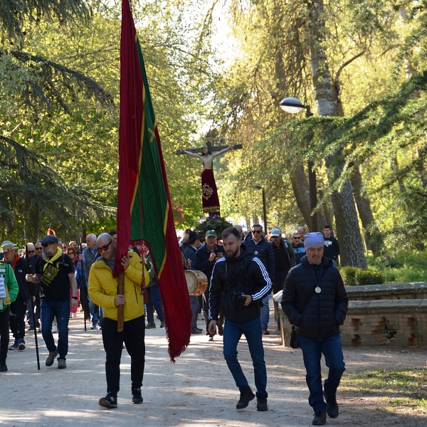
[{"label": "man in blue jacket directly behind the bearded man with striped sleeves", "polygon": [[[265,269],[268,271],[268,276],[273,282],[275,279],[275,260],[273,246],[268,243],[264,237],[263,226],[255,224],[252,226],[252,236],[248,235],[245,241],[246,250],[251,255],[258,258],[264,264]],[[268,335],[268,320],[270,319],[270,307],[268,307],[268,299],[270,294],[265,295],[261,307],[261,326],[263,327],[263,334]]]}]

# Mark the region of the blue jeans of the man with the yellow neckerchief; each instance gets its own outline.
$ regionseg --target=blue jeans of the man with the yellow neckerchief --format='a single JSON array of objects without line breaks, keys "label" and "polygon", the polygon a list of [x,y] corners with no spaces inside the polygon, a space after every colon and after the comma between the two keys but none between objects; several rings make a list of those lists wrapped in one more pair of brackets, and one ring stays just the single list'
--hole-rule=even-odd
[{"label": "blue jeans of the man with the yellow neckerchief", "polygon": [[[64,359],[68,353],[68,321],[70,320],[69,301],[47,301],[42,300],[41,307],[41,335],[45,340],[49,352],[56,352],[58,349],[58,359]],[[53,317],[56,316],[58,325],[58,347],[52,334]]]}]

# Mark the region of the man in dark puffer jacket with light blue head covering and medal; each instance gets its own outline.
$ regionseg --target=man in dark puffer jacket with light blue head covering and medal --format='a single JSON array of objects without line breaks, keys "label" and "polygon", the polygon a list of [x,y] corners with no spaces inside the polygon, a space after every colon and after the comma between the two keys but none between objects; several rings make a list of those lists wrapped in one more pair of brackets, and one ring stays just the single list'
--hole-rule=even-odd
[{"label": "man in dark puffer jacket with light blue head covering and medal", "polygon": [[[315,426],[325,424],[326,413],[331,418],[337,418],[339,413],[336,393],[344,372],[339,326],[344,323],[349,302],[339,271],[332,260],[323,257],[324,243],[322,233],[305,235],[306,255],[290,270],[282,297],[283,311],[295,325],[302,349]],[[322,353],[330,369],[324,391]]]}]

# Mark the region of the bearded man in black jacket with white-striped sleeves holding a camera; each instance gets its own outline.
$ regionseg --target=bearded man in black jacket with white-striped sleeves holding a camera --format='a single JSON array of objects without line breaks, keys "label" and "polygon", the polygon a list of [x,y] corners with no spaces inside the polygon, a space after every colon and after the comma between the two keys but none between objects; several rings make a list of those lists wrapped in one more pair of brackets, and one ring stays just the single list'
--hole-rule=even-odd
[{"label": "bearded man in black jacket with white-striped sleeves holding a camera", "polygon": [[226,322],[223,330],[223,350],[228,369],[241,392],[236,408],[246,408],[249,401],[255,397],[237,359],[237,344],[242,334],[245,334],[254,367],[258,400],[256,408],[258,411],[267,411],[267,371],[260,322],[260,300],[271,292],[271,280],[263,263],[241,248],[242,242],[236,228],[226,228],[222,237],[226,257],[216,261],[212,272],[209,290],[209,333],[216,334],[221,292],[224,292],[223,310]]}]

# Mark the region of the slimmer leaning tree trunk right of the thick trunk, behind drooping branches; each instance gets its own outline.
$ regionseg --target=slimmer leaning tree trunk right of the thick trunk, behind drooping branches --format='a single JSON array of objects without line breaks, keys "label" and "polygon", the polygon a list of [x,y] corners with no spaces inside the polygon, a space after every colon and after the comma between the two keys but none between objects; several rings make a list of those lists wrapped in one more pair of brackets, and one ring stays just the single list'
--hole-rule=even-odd
[{"label": "slimmer leaning tree trunk right of the thick trunk, behind drooping branches", "polygon": [[357,211],[362,221],[364,228],[364,236],[367,241],[367,246],[371,249],[374,256],[381,255],[381,248],[383,248],[383,239],[379,233],[378,228],[368,231],[369,226],[374,223],[374,215],[372,214],[371,203],[368,196],[362,192],[362,174],[357,170],[352,176],[352,189],[353,196],[356,200]]}]

